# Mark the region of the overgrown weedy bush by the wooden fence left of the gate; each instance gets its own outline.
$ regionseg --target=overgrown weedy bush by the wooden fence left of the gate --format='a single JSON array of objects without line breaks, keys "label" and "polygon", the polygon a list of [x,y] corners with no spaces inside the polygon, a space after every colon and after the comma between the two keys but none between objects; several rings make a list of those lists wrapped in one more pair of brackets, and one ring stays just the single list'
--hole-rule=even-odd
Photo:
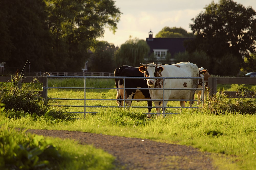
[{"label": "overgrown weedy bush by the wooden fence left of the gate", "polygon": [[22,86],[22,77],[15,73],[12,83],[3,83],[0,87],[0,99],[5,104],[8,117],[22,117],[26,114],[33,115],[35,118],[45,116],[48,119],[69,119],[74,117],[74,113],[67,113],[64,107],[45,106],[43,98],[40,96],[38,87],[35,83],[28,83]]}]

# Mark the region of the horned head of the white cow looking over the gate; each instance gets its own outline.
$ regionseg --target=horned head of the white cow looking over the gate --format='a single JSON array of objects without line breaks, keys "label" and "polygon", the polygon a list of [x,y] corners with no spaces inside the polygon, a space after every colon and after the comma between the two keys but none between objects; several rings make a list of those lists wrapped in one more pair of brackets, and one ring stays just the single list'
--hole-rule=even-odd
[{"label": "horned head of the white cow looking over the gate", "polygon": [[[141,67],[139,67],[140,72],[145,74],[145,77],[160,77],[161,72],[164,70],[163,67],[159,67],[162,64],[155,64],[155,63],[150,63],[150,64],[143,64],[141,63]],[[149,86],[155,86],[156,79],[150,79],[147,78],[147,85]]]}]

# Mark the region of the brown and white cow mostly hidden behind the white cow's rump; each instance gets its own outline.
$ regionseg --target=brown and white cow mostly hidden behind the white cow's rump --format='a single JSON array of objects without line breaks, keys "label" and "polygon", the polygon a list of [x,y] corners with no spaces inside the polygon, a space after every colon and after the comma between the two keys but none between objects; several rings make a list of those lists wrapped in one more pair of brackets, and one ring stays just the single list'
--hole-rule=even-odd
[{"label": "brown and white cow mostly hidden behind the white cow's rump", "polygon": [[[204,75],[204,81],[206,81],[204,83],[204,85],[205,85],[204,99],[206,99],[207,94],[208,94],[208,77],[210,77],[211,75],[209,74],[208,70],[204,69],[203,67],[198,68],[198,70],[199,70],[199,77],[201,75]],[[202,79],[199,79],[197,88],[201,88],[201,89],[203,88]],[[200,100],[203,100],[202,90],[196,90],[195,94],[197,95],[197,100],[198,100],[197,105],[199,105]]]}]

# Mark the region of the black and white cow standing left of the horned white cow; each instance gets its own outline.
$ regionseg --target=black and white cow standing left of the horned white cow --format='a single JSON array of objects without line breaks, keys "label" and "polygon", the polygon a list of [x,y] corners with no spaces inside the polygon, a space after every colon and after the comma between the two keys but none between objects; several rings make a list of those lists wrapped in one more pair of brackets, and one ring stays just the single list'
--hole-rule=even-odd
[{"label": "black and white cow standing left of the horned white cow", "polygon": [[[116,68],[114,71],[114,76],[119,77],[144,77],[144,74],[141,73],[138,67],[131,66],[121,66]],[[116,88],[124,88],[124,79],[115,79]],[[125,99],[142,99],[140,101],[146,101],[150,98],[148,89],[126,89],[126,88],[148,88],[147,81],[145,79],[125,79]],[[117,89],[116,95],[117,103],[119,106],[123,106],[124,99],[124,90]],[[137,101],[139,102],[139,101]],[[132,101],[126,100],[126,106],[131,106]],[[152,101],[147,101],[147,106],[152,107]],[[148,113],[150,113],[152,108],[148,108]],[[151,114],[148,114],[147,117],[151,117]]]}]

